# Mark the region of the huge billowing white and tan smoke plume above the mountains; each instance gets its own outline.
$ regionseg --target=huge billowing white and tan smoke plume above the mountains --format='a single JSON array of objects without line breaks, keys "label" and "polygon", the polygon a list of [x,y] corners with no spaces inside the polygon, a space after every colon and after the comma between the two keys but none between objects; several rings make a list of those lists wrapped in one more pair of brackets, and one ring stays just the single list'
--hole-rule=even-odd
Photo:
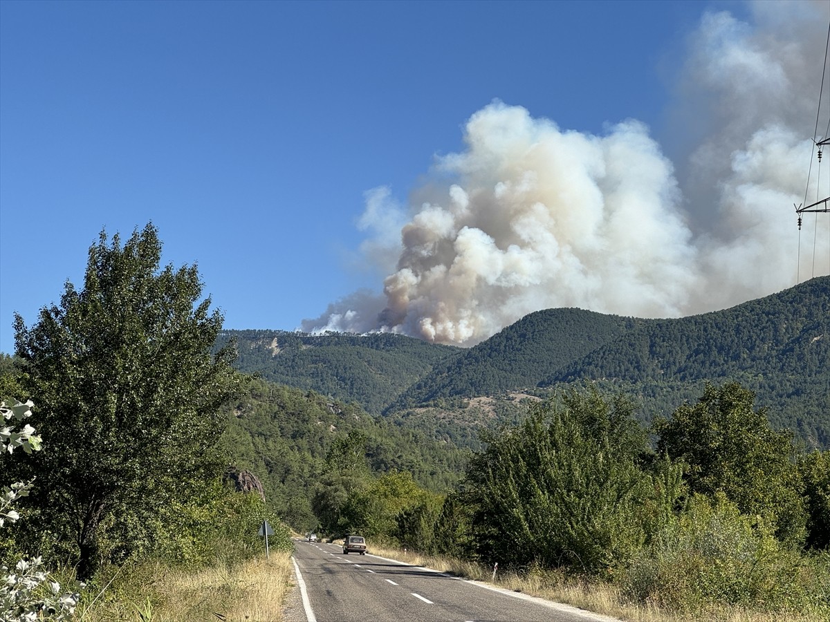
[{"label": "huge billowing white and tan smoke plume above the mountains", "polygon": [[[828,274],[830,215],[806,215],[797,265],[793,208],[828,3],[759,2],[753,17],[707,13],[692,37],[675,119],[702,134],[677,166],[637,120],[593,136],[500,102],[473,114],[466,148],[437,160],[408,214],[388,189],[367,194],[363,250],[388,266],[383,296],[353,294],[304,330],[472,345],[539,309],[677,317]],[[816,170],[808,203],[828,192]]]}]

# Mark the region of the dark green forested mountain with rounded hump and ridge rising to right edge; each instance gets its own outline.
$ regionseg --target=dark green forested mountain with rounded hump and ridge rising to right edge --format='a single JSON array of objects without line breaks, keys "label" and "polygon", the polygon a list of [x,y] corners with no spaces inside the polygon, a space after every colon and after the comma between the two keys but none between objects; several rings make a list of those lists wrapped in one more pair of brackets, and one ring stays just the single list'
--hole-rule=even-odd
[{"label": "dark green forested mountain with rounded hump and ridge rising to right edge", "polygon": [[730,380],[756,393],[775,427],[793,430],[808,446],[830,446],[830,277],[687,318],[531,313],[438,363],[387,412],[425,402],[449,406],[454,396],[593,385],[632,397],[648,421],[696,399],[706,381]]}]

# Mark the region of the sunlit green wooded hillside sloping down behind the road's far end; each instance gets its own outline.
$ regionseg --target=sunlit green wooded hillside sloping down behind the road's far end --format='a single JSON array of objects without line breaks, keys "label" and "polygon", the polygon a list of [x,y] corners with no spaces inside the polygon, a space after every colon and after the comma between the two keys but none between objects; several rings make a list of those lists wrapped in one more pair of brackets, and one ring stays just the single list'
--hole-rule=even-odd
[{"label": "sunlit green wooded hillside sloping down behind the road's far end", "polygon": [[358,439],[372,473],[405,472],[435,491],[457,483],[470,455],[359,406],[256,378],[224,414],[222,453],[238,469],[256,474],[268,503],[294,525],[315,523],[310,498],[338,442]]}]

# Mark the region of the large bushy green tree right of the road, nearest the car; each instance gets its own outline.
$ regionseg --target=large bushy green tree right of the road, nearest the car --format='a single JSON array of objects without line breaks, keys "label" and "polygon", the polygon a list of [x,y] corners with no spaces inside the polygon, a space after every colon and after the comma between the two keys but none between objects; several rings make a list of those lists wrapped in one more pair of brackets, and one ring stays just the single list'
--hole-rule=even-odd
[{"label": "large bushy green tree right of the road, nearest the car", "polygon": [[465,482],[483,558],[595,572],[642,546],[640,513],[655,487],[627,401],[564,393],[485,440]]}]

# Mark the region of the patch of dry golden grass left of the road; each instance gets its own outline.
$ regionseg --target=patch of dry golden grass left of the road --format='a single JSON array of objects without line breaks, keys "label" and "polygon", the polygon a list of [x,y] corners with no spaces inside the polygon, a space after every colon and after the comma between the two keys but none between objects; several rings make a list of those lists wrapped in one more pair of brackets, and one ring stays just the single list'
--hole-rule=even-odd
[{"label": "patch of dry golden grass left of the road", "polygon": [[293,572],[288,552],[198,571],[141,566],[95,603],[82,604],[79,620],[280,622]]}]

